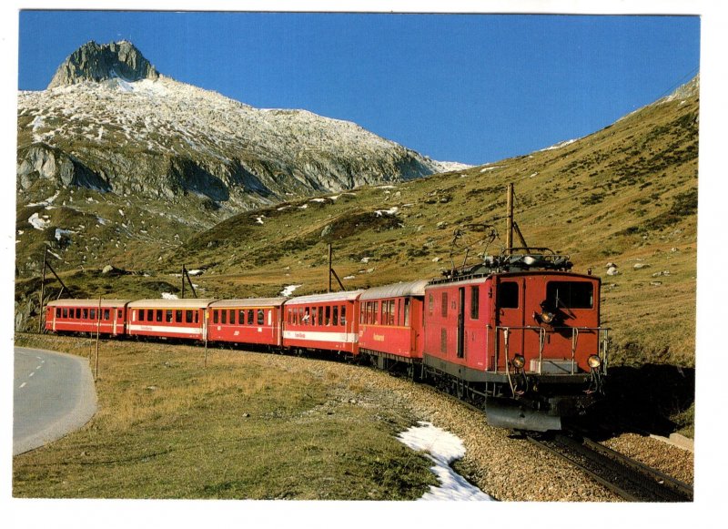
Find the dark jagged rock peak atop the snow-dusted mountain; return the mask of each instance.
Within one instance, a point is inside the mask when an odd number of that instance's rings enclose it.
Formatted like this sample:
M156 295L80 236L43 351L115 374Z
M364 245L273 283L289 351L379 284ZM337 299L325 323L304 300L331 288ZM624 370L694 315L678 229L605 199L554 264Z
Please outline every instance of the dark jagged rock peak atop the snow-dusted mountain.
M125 81L157 79L159 73L132 43L122 40L99 45L89 41L58 67L48 88L83 81L105 81L121 77Z

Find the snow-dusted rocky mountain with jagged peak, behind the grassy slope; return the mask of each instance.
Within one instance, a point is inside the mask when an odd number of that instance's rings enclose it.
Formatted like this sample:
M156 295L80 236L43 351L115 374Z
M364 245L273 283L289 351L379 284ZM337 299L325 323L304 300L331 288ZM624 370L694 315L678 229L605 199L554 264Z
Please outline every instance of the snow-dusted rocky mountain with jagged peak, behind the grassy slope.
M418 178L443 164L354 123L259 109L161 76L127 42L88 43L48 89L18 97L17 185L208 198L227 213L292 196Z

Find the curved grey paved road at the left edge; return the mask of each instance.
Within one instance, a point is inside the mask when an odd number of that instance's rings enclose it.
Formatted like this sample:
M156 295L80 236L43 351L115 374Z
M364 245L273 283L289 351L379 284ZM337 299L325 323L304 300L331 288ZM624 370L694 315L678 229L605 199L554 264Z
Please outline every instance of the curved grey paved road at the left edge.
M96 413L96 388L86 359L15 347L13 455L56 441Z

